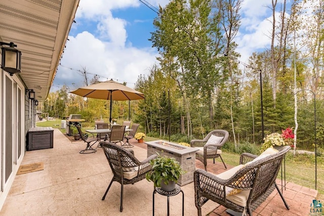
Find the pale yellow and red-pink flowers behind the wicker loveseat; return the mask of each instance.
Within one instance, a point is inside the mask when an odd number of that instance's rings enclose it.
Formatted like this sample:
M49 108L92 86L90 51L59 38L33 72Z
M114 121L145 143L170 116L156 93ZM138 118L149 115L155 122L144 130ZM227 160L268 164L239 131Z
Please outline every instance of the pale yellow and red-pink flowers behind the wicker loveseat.
M261 146L261 152L266 150L269 147L273 146L285 146L290 145L294 147L294 133L293 128L287 127L286 129L281 130L282 134L272 133L267 135L263 140L264 143Z

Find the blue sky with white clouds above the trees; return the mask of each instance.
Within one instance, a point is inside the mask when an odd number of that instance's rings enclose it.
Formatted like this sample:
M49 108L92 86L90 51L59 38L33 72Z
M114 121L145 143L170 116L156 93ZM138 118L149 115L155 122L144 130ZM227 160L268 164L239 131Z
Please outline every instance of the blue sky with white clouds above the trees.
M146 2L158 8L169 0ZM242 25L236 37L241 61L270 46L271 10L266 4L271 1L245 0L242 4ZM63 84L70 91L83 87L83 69L88 80L97 74L101 81L125 81L133 88L138 76L148 74L156 62L157 51L148 40L156 16L139 0L80 0L51 91Z

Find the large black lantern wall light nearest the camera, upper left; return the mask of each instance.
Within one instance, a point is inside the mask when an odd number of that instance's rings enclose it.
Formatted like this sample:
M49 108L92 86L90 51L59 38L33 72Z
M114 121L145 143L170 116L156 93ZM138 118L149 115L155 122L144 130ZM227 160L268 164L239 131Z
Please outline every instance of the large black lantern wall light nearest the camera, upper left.
M1 42L0 45L6 45L9 47L2 47L2 64L1 68L5 71L7 71L11 76L13 76L15 73L20 73L21 71L21 52L15 47L13 42L10 42L10 44L6 42Z

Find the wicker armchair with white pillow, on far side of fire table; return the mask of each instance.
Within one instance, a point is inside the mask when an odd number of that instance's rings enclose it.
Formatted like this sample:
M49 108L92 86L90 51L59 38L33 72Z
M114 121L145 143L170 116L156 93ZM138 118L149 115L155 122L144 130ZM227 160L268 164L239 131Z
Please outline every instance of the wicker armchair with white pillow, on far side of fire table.
M215 140L213 140L215 138ZM196 152L196 159L204 163L205 170L207 171L207 159L220 157L225 168L227 169L224 160L221 156L221 147L225 144L228 139L228 132L223 129L215 129L211 131L203 140L191 140L191 147L199 149ZM203 143L204 147L195 147L198 143Z

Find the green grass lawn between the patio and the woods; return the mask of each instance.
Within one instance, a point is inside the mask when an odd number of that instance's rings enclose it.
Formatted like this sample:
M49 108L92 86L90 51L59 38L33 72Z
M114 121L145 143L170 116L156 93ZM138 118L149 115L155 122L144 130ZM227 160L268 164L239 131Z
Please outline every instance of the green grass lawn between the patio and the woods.
M36 122L36 126L59 128L64 134L65 128L61 128L61 120L49 120ZM90 129L93 127L83 127L83 129ZM146 137L145 141L159 140L158 138ZM223 151L222 157L225 163L230 165L238 165L239 154ZM286 181L293 182L311 189L315 189L315 157L313 155L297 155L293 156L288 153L286 156ZM281 178L279 171L278 179ZM317 199L324 199L324 157L317 157Z

